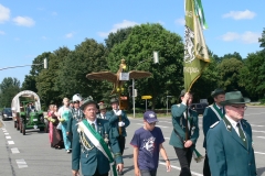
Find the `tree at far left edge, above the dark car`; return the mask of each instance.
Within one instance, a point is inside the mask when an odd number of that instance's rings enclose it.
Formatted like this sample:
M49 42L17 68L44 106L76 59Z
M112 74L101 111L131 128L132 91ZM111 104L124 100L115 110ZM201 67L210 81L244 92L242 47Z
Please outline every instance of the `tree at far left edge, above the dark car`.
M0 107L10 107L13 97L20 91L20 81L7 77L0 84Z

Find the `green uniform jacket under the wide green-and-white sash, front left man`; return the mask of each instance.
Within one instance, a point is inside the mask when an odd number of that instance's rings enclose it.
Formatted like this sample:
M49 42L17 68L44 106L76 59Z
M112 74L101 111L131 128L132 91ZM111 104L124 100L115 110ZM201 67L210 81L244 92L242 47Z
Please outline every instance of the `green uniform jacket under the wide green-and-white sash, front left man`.
M103 139L107 138L109 140L108 145L115 156L115 162L116 164L119 164L123 163L123 157L117 141L118 132L115 131L117 131L116 128L112 128L107 120L97 119L97 132L103 136ZM74 135L76 138L73 138L72 143L72 169L78 170L81 163L83 175L93 176L97 168L99 174L108 173L110 169L108 158L100 151L94 147L86 135L85 140L91 145L89 150L81 143L78 132L74 131L73 133L77 134Z

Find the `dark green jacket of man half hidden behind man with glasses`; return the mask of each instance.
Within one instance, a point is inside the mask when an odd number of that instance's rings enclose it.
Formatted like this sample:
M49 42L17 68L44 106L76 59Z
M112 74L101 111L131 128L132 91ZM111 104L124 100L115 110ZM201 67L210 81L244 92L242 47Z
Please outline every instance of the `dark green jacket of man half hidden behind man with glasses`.
M204 140L203 140L203 147L204 148L206 148L206 133L208 133L208 130L216 121L220 121L216 113L212 110L212 108L206 107L205 110L204 110L204 113L203 113L203 118L202 118L202 128L203 128L203 134L204 134Z

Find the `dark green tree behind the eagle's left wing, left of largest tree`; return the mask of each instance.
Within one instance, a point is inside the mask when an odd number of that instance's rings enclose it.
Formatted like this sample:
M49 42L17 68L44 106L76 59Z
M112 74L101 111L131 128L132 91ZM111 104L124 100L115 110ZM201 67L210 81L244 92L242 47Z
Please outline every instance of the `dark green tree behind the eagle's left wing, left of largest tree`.
M61 98L81 94L100 100L102 92L106 92L104 82L86 78L87 74L100 70L107 70L105 47L95 40L86 38L60 63L56 86L62 92Z

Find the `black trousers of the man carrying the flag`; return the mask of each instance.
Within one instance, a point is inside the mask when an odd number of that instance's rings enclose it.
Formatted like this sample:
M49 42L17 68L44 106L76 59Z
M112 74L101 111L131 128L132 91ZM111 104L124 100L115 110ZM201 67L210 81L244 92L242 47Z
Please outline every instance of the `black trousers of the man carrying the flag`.
M188 148L174 147L174 152L180 162L180 176L191 176L190 164L192 158L192 151Z

